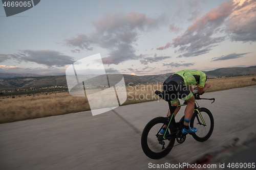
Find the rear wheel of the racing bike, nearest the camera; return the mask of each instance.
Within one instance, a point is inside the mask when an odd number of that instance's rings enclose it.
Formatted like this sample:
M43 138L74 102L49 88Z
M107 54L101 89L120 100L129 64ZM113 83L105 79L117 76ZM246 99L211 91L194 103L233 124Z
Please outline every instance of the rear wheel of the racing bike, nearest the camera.
M173 149L176 135L173 123L170 123L168 128L168 131L172 135L172 138L170 138L169 140L163 140L164 142L166 142L165 149L162 150L162 145L159 144L159 140L156 134L161 129L163 124L168 124L166 117L156 117L147 123L142 132L141 147L145 155L151 159L161 159Z

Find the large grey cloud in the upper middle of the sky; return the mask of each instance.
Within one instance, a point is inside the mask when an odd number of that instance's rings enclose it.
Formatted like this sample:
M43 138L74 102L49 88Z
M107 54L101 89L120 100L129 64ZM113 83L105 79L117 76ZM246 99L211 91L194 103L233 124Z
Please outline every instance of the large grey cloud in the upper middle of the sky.
M63 44L81 50L93 50L91 45L98 45L109 52L107 57L102 58L104 64L119 64L139 59L134 43L143 32L155 30L165 21L165 15L153 18L137 12L102 15L93 21L95 32L90 36L77 34L63 40Z

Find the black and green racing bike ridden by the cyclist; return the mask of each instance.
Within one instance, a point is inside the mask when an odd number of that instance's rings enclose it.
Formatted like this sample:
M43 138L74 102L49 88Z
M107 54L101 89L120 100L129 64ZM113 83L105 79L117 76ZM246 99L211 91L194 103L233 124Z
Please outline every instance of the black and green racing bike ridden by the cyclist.
M167 100L166 95L158 90L155 94L168 102L170 115L167 117L153 118L145 126L141 135L141 147L145 155L152 159L160 159L165 157L176 145L183 143L187 134L181 132L182 125L184 123L184 116L179 122L175 122L174 111L179 106L186 106L184 102L182 105L172 106L170 100ZM196 100L212 100L214 103L215 98L205 99L200 98L200 94L194 94ZM164 134L160 133L160 130L166 125ZM195 110L190 120L190 127L197 128L196 133L190 135L197 141L206 141L214 130L214 117L211 112L204 108L199 107L198 103L195 103ZM175 140L178 144L174 145Z

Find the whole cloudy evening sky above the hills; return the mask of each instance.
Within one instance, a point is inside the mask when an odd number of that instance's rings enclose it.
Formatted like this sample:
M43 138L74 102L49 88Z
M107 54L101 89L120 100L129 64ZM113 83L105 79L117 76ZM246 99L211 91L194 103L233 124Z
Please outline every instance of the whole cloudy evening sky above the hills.
M5 73L65 75L98 53L138 76L256 65L254 0L42 0L10 17L1 6L0 28Z

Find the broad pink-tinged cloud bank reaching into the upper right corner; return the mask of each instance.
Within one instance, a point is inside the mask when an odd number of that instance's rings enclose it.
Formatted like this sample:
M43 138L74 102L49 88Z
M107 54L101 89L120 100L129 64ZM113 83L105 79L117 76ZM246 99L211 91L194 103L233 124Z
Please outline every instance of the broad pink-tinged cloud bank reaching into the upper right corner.
M169 28L178 31L174 24ZM219 33L227 34L218 36ZM202 15L182 35L173 38L173 42L168 42L157 50L174 47L177 48L175 53L181 53L177 58L195 57L208 53L226 40L227 36L232 41L256 41L255 1L236 0L222 3Z

